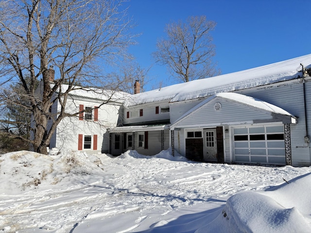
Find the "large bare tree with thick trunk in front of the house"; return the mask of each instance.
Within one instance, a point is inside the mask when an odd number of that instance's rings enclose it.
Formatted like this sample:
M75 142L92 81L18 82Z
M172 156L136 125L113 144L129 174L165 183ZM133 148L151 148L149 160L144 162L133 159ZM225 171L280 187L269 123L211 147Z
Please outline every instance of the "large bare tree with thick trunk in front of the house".
M59 122L79 114L66 112L69 93L76 84L104 82L96 67L126 55L126 47L134 43L129 33L131 21L122 3L123 0L0 2L0 85L5 89L12 82L21 83L27 104L20 107L32 115L33 135L22 138L31 143L36 152L47 153L46 147ZM52 85L51 67L57 77ZM41 95L35 92L39 79ZM20 104L14 98L4 95L0 98L2 106ZM61 109L48 129L49 109L55 101L59 101Z

